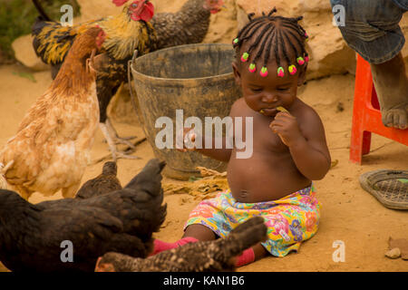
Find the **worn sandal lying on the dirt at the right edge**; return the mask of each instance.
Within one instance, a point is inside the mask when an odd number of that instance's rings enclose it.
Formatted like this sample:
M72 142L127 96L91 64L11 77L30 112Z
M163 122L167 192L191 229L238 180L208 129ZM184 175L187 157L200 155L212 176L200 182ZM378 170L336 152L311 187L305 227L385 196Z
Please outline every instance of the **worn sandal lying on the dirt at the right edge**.
M408 170L374 170L360 176L361 187L384 207L408 209Z

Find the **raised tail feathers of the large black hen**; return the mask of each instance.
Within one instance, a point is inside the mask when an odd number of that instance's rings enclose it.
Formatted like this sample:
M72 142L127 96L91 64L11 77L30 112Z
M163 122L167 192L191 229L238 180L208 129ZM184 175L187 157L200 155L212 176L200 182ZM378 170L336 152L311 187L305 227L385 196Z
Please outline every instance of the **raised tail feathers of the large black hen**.
M162 191L161 171L165 165L165 161L160 161L158 159L149 160L141 172L126 185L125 189L141 189L147 191L151 195L159 195Z

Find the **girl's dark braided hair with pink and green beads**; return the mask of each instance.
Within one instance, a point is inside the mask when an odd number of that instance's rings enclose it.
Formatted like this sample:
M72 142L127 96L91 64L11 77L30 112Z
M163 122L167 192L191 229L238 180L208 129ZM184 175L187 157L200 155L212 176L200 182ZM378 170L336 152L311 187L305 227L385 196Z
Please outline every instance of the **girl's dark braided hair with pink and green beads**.
M288 49L295 53L297 64L303 65L309 60L305 49L305 40L308 36L305 29L298 24L303 17L274 16L273 14L276 12L277 9L274 8L269 14L262 13L262 16L257 18L253 18L254 14L248 14L249 23L238 32L237 38L233 41L238 57L242 43L251 41L248 50L240 56L240 60L245 63L248 61L249 55L254 51L256 52L249 64L249 72L251 73L257 71L257 60L262 57L263 66L260 74L267 76L267 63L272 54L271 50L273 50L277 62L277 75L281 77L285 75L285 69L281 66L282 58L287 62L290 74L295 74L297 71L296 64L291 64Z

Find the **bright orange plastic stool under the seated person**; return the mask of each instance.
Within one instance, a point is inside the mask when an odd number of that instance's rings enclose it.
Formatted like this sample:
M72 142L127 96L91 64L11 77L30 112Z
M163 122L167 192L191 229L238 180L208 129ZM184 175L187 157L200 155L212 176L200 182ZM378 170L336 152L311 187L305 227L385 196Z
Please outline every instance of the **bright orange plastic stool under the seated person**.
M370 63L357 56L355 101L350 144L350 160L361 164L362 156L370 152L371 133L408 145L408 129L385 127L381 121L380 105L374 89Z

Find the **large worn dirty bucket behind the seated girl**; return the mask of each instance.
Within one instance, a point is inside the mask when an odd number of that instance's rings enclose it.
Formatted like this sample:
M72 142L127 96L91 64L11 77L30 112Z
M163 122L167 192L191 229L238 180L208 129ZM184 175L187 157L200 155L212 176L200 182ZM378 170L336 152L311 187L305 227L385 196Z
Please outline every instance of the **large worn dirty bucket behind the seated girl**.
M173 179L199 177L197 166L226 170L226 163L198 152L160 150L155 140L162 128L156 128L155 123L163 116L171 119L175 148L176 110L183 110L184 121L196 116L203 124L204 117L228 116L232 104L241 97L231 67L234 55L230 44L199 43L148 53L132 61L139 117L155 156L167 162L164 175Z

